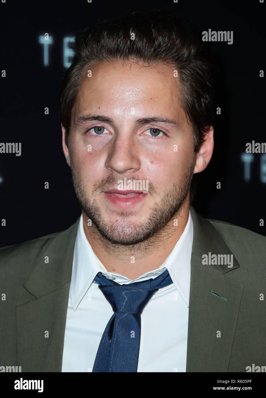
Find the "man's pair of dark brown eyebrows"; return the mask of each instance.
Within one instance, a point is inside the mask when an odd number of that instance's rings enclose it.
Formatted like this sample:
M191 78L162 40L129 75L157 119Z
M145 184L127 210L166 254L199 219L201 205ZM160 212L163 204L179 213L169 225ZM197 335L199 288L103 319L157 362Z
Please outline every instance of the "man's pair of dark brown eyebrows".
M108 116L104 115L94 115L94 114L88 114L88 115L82 115L76 119L74 122L75 126L78 127L82 125L83 123L86 123L88 121L92 120L98 120L101 122L106 122L106 123L114 123L113 119L111 119ZM161 116L154 116L154 117L142 117L140 119L135 120L134 124L148 124L148 123L166 123L168 125L172 125L175 127L180 127L181 123L178 120L174 119L168 119L167 117L161 117Z

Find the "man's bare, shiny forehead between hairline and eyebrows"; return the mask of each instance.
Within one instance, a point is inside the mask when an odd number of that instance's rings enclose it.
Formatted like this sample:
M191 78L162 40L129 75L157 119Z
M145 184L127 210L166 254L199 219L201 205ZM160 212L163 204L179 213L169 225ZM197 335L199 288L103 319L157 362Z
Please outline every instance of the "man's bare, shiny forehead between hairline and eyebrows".
M78 119L88 114L136 115L135 119L141 116L165 115L165 118L177 121L176 113L180 109L180 101L174 84L176 79L169 66L162 64L156 68L142 68L140 64L133 64L132 68L137 68L133 70L133 74L129 71L130 65L126 66L128 70L125 76L130 76L129 79L121 77L120 71L125 70L125 65L121 62L95 64L91 66L91 77L87 76L90 70L88 65L84 72L86 77L80 85L78 98L72 109L74 123L79 123ZM168 72L164 75L162 70L165 71L166 67ZM135 74L136 70L145 72ZM182 110L178 113L182 113Z

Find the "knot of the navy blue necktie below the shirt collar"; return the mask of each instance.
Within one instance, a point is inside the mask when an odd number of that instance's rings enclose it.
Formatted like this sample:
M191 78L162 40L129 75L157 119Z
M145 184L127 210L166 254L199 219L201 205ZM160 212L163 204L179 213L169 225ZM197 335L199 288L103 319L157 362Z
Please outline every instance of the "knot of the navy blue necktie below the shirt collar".
M99 285L110 302L113 312L141 314L143 308L158 289L145 289L132 285Z

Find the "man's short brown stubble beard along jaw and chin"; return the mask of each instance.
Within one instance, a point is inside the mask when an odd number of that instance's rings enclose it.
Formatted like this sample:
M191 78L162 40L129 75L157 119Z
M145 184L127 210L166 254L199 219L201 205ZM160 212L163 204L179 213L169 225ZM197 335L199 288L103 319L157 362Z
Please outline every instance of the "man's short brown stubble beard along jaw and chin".
M140 248L148 249L154 246L156 242L158 243L159 237L166 236L172 232L169 222L177 218L178 213L182 210L190 189L195 162L196 156L194 155L179 183L172 184L168 190L159 195L160 199L153 204L149 217L138 224L130 221L130 217L136 213L124 210L113 211L117 221L106 222L98 206L97 199L90 200L86 197L82 181L71 166L72 182L77 199L88 219L92 220L92 226L88 228L94 229L95 234L98 235L98 238L106 247L117 245L117 249L120 246L131 250L139 250ZM114 181L115 179L113 177L111 180ZM129 179L132 179L132 177L129 176ZM96 191L99 192L99 190L94 190L94 193ZM157 192L156 189L153 189L153 193L155 192ZM150 195L150 193L146 195Z

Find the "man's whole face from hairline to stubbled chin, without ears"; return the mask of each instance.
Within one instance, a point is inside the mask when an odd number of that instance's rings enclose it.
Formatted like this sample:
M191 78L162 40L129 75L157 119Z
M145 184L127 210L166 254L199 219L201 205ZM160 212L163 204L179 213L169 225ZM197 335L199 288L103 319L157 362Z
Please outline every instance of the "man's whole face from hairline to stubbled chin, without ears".
M85 214L113 243L156 236L188 199L196 156L179 93L178 77L164 64L95 64L82 77L72 109L69 164ZM109 120L80 119L89 114ZM144 120L158 117L176 125ZM148 193L125 195L147 187Z

